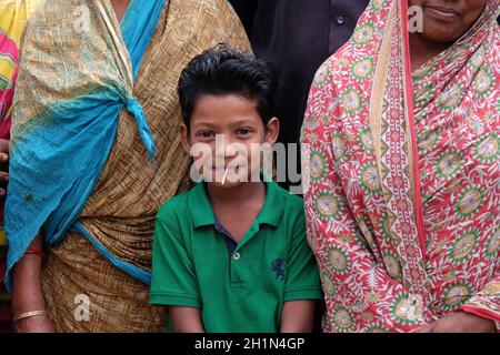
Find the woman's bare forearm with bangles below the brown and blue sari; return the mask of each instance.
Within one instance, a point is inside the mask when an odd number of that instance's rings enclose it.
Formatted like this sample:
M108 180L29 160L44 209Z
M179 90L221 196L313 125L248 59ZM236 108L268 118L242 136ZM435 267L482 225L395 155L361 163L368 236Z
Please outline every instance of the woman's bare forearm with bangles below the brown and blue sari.
M31 243L30 250L42 251L43 239L39 234ZM39 255L24 254L12 268L12 311L14 316L31 311L44 311L41 285L42 258ZM52 325L47 314L19 320L16 323L19 333L51 333Z

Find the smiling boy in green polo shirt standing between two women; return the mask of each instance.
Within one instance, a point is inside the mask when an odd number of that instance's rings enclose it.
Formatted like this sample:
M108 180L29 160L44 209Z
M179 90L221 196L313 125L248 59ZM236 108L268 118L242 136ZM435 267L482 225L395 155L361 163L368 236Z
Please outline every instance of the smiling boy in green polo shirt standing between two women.
M169 306L174 332L311 332L322 293L303 202L252 179L252 144L279 133L270 70L221 45L191 61L178 91L183 144L209 154L203 181L157 215L151 303Z

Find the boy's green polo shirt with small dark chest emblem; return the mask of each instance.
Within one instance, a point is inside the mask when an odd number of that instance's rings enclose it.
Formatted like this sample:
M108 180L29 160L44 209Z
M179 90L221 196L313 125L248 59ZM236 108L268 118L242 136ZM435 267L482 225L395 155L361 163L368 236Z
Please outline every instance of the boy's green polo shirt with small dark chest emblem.
M204 183L157 215L151 304L201 308L206 332L279 332L287 301L321 300L303 201L267 182L240 243L216 220Z

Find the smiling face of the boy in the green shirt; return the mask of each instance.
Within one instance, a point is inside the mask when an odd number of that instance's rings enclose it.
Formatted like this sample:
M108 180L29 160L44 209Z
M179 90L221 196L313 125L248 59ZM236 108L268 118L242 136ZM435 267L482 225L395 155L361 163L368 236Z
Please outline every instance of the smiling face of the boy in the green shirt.
M228 189L259 176L261 146L274 144L278 132L278 119L264 125L256 100L234 94L200 97L190 130L181 126L184 146L204 180Z

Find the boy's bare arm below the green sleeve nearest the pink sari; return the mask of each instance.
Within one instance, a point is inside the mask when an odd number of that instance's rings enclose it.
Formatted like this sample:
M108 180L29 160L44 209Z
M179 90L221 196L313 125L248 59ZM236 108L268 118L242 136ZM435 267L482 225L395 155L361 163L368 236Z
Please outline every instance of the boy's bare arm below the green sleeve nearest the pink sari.
M311 333L316 301L290 301L283 304L281 333Z

